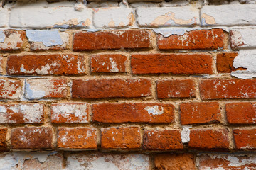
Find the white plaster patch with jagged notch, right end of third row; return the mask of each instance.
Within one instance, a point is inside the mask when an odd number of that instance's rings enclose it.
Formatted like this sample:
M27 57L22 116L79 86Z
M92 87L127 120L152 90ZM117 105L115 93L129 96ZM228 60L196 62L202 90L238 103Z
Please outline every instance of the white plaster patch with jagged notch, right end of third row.
M233 66L242 67L247 70L236 70L231 75L240 79L251 79L256 77L256 50L240 50L235 57Z

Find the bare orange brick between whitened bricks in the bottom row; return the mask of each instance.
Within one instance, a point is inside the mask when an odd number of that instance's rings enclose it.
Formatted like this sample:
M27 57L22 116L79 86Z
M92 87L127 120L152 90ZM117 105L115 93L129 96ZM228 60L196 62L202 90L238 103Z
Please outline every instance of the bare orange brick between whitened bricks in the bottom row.
M156 154L154 157L154 165L156 170L196 170L196 158L193 154Z

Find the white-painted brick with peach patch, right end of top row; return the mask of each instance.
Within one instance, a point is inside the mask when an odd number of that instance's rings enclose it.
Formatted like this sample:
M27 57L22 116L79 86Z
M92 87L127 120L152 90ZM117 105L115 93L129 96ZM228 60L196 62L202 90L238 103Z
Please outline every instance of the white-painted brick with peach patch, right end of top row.
M201 26L244 26L255 24L255 5L203 6L201 9Z

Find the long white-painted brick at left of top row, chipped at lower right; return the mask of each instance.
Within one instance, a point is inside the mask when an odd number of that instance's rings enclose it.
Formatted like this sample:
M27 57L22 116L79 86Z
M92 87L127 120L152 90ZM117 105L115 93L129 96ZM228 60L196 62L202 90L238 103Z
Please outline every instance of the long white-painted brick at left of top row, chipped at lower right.
M86 28L92 23L92 9L74 7L19 6L11 8L9 26L17 28Z

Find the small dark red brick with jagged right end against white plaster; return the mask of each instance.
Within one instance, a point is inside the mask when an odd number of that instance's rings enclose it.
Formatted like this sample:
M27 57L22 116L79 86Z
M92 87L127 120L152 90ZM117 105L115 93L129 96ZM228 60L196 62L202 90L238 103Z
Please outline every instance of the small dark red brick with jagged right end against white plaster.
M217 54L217 70L218 72L227 72L230 73L235 71L235 67L233 67L233 62L235 57L238 56L237 52L223 52Z

